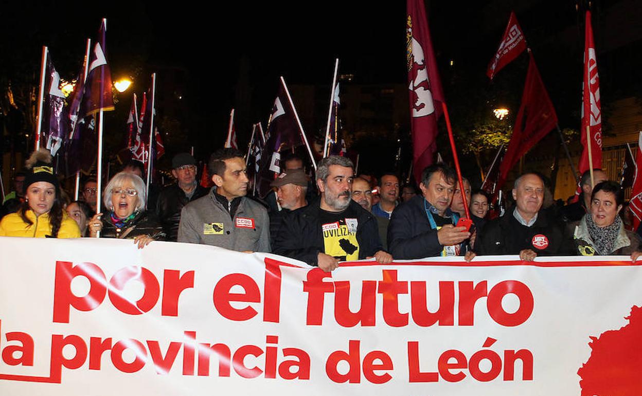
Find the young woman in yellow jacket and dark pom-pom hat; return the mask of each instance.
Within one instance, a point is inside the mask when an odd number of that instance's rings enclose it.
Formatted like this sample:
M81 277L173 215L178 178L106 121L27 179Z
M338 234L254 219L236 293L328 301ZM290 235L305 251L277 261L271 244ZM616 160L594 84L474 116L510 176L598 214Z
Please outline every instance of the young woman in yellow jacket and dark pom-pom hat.
M35 151L26 162L25 200L0 221L0 236L77 238L80 228L63 209L49 151Z

